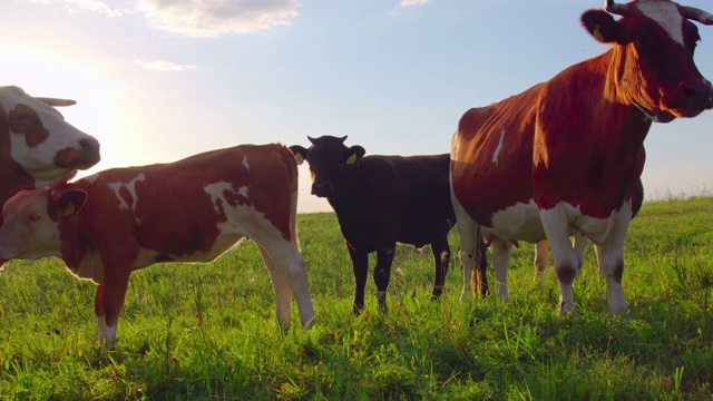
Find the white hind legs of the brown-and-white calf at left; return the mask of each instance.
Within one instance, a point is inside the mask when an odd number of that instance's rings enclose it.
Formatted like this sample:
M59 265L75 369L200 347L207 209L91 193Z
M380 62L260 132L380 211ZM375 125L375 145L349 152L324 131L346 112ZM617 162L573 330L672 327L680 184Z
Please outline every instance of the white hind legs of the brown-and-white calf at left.
M275 291L276 316L279 324L284 329L290 327L290 310L292 294L300 310L302 327L310 329L314 321L314 309L310 296L304 257L293 242L279 239L257 244L263 262L267 266L270 278Z

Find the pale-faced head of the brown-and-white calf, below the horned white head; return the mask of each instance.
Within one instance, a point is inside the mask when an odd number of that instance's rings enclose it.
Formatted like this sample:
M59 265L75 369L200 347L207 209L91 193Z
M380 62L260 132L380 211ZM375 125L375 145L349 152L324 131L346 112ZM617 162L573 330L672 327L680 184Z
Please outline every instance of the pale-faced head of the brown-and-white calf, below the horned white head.
M59 221L81 209L87 193L50 187L20 190L2 205L0 263L61 255Z

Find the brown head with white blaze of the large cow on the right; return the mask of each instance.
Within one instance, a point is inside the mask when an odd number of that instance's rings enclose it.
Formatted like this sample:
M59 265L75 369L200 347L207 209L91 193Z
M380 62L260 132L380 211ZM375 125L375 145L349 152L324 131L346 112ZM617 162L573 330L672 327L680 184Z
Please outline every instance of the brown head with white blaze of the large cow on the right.
M691 22L713 25L712 14L670 0L606 0L605 6L606 11L585 12L582 22L597 40L615 45L608 100L634 105L661 123L713 108L713 87L693 61L701 37Z

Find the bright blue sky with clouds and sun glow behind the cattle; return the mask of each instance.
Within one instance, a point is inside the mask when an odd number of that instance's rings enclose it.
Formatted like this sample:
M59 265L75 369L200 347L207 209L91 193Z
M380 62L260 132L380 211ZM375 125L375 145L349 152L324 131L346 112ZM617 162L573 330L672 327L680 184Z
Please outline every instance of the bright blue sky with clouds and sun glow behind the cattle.
M603 3L2 0L0 85L77 100L60 111L102 155L81 176L322 135L368 155L442 154L469 108L606 51L579 22ZM696 63L713 79L713 27L699 29ZM713 193L712 127L713 111L654 124L647 200ZM306 163L300 174L299 212L331 211Z

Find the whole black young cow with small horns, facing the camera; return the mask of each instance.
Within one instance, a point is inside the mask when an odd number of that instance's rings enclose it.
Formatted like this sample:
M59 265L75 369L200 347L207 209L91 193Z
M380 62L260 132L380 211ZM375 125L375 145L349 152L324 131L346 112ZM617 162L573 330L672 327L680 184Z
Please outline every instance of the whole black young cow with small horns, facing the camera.
M437 156L365 156L346 137L307 137L312 146L291 146L299 163L307 160L312 194L326 198L336 213L352 261L356 292L353 312L364 309L369 254L377 252L373 280L381 312L397 243L431 245L433 297L442 293L450 262L448 233L456 215L448 189L448 154Z

